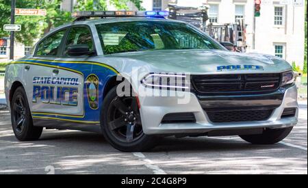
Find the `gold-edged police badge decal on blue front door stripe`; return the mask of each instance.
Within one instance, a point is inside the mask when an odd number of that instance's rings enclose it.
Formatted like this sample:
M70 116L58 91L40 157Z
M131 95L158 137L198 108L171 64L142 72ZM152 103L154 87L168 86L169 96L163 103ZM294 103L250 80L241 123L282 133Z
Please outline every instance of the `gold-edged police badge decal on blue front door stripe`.
M86 79L88 102L91 109L99 108L99 77L89 75Z

